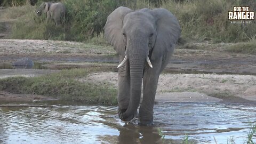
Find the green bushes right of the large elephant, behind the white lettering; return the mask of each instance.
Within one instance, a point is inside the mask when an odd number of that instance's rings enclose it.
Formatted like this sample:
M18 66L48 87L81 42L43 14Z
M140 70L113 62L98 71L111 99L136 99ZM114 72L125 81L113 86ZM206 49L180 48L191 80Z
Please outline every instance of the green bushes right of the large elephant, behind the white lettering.
M250 1L235 0L205 0L184 1L175 3L166 1L163 7L174 13L180 21L182 37L187 39L213 39L215 42L245 42L254 37L256 23L232 24L228 20L228 11L234 6L250 5L255 9L255 4Z

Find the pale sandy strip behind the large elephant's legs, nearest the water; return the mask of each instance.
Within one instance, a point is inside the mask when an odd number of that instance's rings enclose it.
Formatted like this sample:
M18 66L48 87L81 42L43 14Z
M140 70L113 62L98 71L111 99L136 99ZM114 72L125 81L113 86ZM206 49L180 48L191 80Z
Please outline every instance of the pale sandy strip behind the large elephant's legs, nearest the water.
M117 87L117 73L92 73L79 81L110 83ZM256 102L256 76L161 74L159 77L158 102L218 102L221 99L225 102Z

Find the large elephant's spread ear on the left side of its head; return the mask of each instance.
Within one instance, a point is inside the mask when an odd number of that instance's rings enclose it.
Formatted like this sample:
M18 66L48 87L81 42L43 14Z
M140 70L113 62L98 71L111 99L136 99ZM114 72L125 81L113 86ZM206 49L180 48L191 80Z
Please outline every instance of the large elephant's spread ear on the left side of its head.
M132 10L127 7L118 7L108 15L107 22L104 26L104 37L114 46L115 51L123 57L125 55L125 45L122 35L123 20L125 15L130 12Z

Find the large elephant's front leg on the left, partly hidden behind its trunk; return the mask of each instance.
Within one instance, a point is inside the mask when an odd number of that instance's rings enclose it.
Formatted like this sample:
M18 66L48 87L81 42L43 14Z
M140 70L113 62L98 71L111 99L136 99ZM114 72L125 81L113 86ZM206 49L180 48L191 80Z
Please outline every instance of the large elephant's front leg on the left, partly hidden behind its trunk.
M121 58L123 60L123 58ZM122 61L121 60L121 61ZM129 106L131 93L131 78L130 78L130 66L129 61L126 61L125 65L118 69L118 116Z

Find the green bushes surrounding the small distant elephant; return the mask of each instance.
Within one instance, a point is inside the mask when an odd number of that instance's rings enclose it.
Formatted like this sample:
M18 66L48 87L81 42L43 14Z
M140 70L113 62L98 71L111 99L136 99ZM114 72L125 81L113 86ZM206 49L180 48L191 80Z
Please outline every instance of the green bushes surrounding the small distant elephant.
M56 27L52 21L45 22L46 14L41 17L35 14L42 2L38 1L36 7L25 6L26 18L14 24L12 38L86 41L103 31L108 14L118 6L116 1L111 0L63 0L67 9L66 22Z

